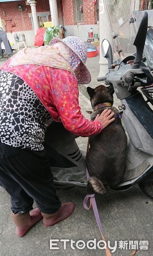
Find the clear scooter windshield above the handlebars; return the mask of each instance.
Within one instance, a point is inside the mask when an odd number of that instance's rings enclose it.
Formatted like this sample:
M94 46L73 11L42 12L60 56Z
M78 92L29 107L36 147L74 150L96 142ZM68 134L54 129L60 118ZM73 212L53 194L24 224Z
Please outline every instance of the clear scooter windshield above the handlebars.
M137 24L133 16L133 0L105 0L111 32L113 36L114 62L121 63L126 56L134 55L133 46L137 34Z

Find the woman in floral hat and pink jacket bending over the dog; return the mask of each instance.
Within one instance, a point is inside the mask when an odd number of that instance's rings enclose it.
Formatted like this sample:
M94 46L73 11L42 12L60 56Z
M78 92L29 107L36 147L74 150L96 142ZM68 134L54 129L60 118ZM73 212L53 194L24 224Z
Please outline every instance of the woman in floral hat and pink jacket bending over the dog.
M86 59L85 43L69 36L53 39L50 46L24 48L0 69L0 184L11 196L19 237L41 218L52 226L74 210L73 203L61 204L56 194L44 148L46 128L54 120L88 137L114 121L109 110L95 121L80 112L78 83L91 81Z

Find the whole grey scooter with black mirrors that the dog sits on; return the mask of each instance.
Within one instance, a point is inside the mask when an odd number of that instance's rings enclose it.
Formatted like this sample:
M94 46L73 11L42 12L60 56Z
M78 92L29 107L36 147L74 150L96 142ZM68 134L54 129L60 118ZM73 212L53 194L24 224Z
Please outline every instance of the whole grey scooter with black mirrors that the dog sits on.
M139 184L143 192L153 197L153 77L142 62L146 32L147 13L134 41L136 56L125 57L117 70L112 68L111 44L104 39L101 50L108 60L108 73L97 80L105 81L106 85L113 84L116 96L121 101L119 109L128 136L125 176L115 190L124 191ZM141 88L141 92L138 88ZM144 95L151 106L145 101ZM75 139L75 135L65 130L62 123L53 122L47 130L45 148L52 163L50 168L57 188L87 187L86 152L80 151Z

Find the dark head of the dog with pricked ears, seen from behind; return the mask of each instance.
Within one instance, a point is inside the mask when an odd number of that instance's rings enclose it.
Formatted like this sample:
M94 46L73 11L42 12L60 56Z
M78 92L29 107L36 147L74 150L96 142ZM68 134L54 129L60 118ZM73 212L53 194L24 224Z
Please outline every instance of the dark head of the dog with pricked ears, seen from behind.
M113 105L113 85L106 87L99 85L95 89L90 86L87 87L87 92L90 96L91 106L94 109L97 104L110 102Z

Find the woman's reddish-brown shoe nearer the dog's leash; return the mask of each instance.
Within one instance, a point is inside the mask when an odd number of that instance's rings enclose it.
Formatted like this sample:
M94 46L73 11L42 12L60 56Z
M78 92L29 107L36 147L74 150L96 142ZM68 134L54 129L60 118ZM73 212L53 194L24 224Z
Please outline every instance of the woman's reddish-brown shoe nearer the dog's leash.
M69 217L74 211L74 204L73 203L63 203L61 208L57 210L56 213L53 214L46 214L41 213L44 217L42 222L44 226L53 226L54 224L58 223L59 221L65 220L65 218Z

